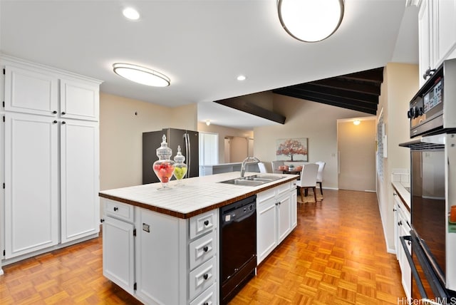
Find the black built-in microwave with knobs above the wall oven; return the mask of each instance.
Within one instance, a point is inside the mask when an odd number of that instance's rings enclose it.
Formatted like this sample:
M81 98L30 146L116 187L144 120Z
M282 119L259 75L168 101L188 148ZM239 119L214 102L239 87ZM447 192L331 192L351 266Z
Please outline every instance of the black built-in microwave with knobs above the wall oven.
M410 101L410 138L456 130L456 58L444 61Z

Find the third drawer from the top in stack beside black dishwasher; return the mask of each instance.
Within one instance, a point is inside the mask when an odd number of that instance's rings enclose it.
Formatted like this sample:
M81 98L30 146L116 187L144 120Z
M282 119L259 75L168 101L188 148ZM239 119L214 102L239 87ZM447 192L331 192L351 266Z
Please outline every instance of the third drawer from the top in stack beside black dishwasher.
M217 259L212 257L189 274L190 299L195 298L214 284L217 276Z

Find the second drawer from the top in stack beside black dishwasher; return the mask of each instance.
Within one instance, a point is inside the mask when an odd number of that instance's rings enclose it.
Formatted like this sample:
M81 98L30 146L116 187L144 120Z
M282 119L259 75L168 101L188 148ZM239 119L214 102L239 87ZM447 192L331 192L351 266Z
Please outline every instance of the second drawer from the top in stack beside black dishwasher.
M217 237L215 231L190 242L190 270L197 267L199 264L206 262L207 259L213 257L215 253L217 253Z

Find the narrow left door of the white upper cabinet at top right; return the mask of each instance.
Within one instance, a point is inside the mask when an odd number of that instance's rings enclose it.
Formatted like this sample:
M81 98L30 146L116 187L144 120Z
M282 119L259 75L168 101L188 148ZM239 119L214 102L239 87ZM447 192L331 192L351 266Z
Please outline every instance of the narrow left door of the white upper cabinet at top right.
M430 31L430 0L423 0L418 14L418 36L419 36L419 61L420 61L420 86L425 83L423 75L432 66L431 63L431 31Z

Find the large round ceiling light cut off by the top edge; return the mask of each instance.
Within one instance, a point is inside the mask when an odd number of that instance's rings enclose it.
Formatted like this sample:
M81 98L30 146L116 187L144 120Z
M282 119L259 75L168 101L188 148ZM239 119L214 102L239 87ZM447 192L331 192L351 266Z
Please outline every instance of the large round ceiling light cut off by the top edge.
M331 36L341 25L343 0L278 0L277 11L291 36L316 42Z

